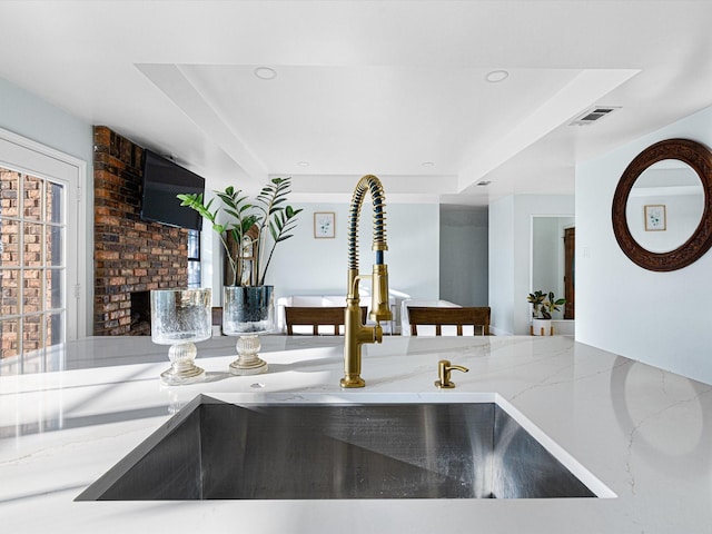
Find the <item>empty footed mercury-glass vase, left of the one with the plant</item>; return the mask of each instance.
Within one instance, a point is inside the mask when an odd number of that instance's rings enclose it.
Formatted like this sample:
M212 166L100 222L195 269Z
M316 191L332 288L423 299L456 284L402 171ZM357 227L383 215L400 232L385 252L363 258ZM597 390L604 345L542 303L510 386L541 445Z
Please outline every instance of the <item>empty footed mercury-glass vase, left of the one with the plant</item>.
M205 370L195 365L197 342L212 332L210 289L151 290L151 340L170 345L171 366L161 373L164 384L176 386L205 379Z

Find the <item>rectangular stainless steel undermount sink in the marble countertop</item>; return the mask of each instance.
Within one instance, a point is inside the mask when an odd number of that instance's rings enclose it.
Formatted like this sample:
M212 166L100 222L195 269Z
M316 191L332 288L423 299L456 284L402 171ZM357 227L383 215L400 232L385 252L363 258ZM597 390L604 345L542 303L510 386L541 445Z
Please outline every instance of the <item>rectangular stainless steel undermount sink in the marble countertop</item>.
M494 402L239 405L199 396L77 500L610 496L589 485Z

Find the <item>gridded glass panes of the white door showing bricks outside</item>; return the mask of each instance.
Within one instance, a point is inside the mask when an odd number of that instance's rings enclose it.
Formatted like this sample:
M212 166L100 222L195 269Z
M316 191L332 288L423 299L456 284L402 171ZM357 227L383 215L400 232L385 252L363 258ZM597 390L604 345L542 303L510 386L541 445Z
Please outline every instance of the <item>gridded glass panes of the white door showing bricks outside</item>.
M0 355L14 373L49 370L46 349L66 340L66 190L0 167Z

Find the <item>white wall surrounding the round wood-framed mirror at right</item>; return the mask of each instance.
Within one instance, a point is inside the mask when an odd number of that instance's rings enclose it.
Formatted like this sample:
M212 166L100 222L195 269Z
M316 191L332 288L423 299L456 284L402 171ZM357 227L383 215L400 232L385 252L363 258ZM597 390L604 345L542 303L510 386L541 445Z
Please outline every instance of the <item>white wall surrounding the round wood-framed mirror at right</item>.
M613 235L621 175L650 145L712 146L712 108L576 168L576 339L712 384L712 254L672 273L633 264Z

